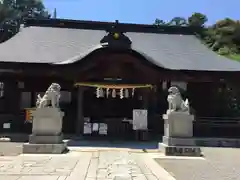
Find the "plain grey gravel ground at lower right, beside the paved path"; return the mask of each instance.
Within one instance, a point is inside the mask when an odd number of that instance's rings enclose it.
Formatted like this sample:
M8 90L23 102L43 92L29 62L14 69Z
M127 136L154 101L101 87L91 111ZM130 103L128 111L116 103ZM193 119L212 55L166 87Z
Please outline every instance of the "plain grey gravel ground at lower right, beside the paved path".
M203 148L205 160L156 159L176 180L240 180L240 149Z

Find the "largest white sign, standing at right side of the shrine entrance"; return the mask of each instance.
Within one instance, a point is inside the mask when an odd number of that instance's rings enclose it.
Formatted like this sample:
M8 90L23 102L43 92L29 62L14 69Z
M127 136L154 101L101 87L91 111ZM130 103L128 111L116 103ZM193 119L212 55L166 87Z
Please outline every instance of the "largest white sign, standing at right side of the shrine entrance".
M146 109L134 109L133 110L133 129L134 130L147 130L147 116Z

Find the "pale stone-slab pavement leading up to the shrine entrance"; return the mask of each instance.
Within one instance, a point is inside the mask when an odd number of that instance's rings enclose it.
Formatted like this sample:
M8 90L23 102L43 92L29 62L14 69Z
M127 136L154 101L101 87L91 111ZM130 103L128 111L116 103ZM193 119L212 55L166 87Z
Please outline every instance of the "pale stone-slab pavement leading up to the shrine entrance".
M173 180L147 153L92 150L0 157L0 180Z

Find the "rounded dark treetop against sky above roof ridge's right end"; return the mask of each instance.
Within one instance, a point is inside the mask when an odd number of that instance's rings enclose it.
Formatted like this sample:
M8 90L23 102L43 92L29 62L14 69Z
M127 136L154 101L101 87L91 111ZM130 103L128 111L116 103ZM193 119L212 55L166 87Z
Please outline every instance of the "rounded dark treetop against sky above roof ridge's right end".
M194 13L188 18L189 26L203 27L207 22L207 16L202 13Z

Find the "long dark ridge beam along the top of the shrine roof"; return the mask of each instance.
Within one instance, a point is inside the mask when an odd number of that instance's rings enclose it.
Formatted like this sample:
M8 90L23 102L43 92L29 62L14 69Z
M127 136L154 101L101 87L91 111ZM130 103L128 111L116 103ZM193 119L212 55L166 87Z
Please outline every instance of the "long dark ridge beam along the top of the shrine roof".
M161 33L161 34L195 34L202 29L196 27L180 27L180 26L156 26L148 24L134 23L119 23L102 22L102 21L87 21L87 20L71 20L71 19L26 19L25 26L38 27L56 27L70 29L91 29L109 31L113 26L117 26L122 32L146 32L146 33Z

